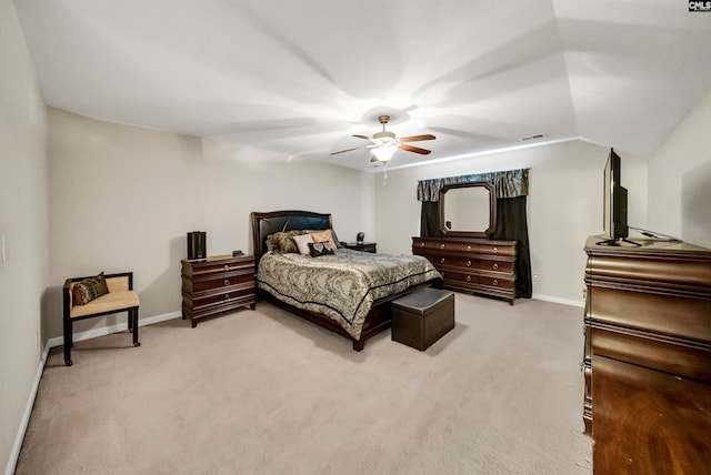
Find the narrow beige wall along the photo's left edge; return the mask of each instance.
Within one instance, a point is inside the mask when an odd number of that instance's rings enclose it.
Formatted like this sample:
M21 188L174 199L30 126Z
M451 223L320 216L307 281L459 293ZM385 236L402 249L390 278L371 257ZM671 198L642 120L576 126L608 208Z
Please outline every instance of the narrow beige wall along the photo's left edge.
M11 471L42 356L48 211L47 108L9 0L0 0L0 465Z

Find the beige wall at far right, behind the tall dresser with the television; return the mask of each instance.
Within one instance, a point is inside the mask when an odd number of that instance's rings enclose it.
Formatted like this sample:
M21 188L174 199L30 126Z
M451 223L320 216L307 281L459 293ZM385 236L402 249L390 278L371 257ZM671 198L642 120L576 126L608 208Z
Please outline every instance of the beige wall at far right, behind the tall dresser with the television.
M711 90L669 134L649 162L652 231L711 247Z

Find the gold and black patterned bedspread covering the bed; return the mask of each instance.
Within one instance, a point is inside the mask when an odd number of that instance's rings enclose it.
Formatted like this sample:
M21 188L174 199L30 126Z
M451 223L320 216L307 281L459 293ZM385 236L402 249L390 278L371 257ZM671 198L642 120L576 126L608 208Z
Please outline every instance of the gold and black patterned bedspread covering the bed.
M328 315L359 340L374 301L437 277L440 273L420 255L339 249L319 257L268 252L259 262L257 285L290 305Z

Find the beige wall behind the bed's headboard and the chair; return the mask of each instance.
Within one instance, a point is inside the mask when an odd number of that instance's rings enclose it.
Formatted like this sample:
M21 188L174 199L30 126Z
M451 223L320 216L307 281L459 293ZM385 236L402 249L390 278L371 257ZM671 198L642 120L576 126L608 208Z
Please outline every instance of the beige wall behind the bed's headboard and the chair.
M251 251L250 212L331 212L343 240L372 234L373 176L257 150L49 110L49 335L61 332L66 277L130 270L141 317L180 311L186 233L210 255ZM123 323L79 322L77 332Z

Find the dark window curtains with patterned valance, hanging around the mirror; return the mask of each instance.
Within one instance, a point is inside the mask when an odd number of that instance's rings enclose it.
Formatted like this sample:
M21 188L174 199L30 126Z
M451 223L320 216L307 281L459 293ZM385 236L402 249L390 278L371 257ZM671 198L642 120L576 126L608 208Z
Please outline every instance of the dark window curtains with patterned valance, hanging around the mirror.
M443 185L477 181L485 181L494 186L497 225L491 239L518 242L517 296L530 299L533 294L533 285L525 212L525 196L529 194L529 169L420 180L418 182L418 200L422 202L420 235L422 238L440 238L442 235L439 200Z

